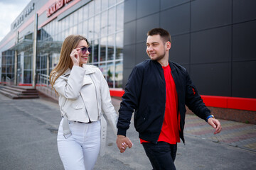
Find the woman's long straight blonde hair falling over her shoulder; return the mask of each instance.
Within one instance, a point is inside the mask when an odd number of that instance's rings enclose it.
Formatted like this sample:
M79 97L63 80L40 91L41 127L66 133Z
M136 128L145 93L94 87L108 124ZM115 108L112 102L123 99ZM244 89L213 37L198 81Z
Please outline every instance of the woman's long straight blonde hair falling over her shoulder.
M75 49L75 47L78 46L80 40L85 40L87 45L89 45L87 39L82 35L69 35L67 38L65 38L60 50L60 60L53 71L50 72L49 79L52 89L56 79L58 79L58 77L60 77L68 68L72 69L73 62L71 60L70 53L73 49ZM58 94L57 91L55 91L55 93Z

